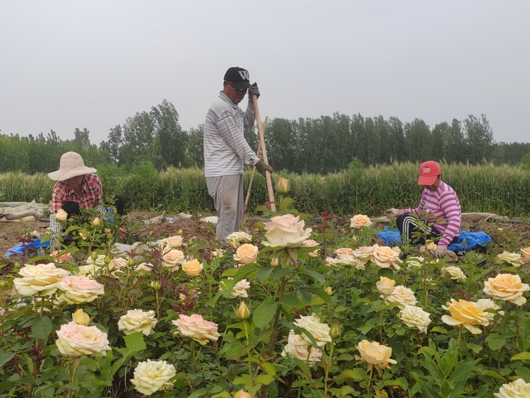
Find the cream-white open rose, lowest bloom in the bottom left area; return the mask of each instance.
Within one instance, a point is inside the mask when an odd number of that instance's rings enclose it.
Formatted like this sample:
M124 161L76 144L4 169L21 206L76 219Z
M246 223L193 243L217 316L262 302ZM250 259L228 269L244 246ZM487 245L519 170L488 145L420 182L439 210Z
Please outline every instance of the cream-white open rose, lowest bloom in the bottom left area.
M175 366L166 361L140 362L134 369L134 377L131 379L134 390L148 397L157 391L173 390L171 378L177 374Z

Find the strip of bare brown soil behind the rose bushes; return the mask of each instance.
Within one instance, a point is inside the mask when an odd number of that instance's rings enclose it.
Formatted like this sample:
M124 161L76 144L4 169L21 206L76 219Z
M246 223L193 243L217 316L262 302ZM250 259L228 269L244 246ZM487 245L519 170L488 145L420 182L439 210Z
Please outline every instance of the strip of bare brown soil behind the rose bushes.
M175 223L158 223L158 224L144 224L142 220L148 220L157 216L152 211L135 211L129 213L126 217L139 224L139 229L136 230L134 237L136 240L145 240L148 235L151 235L154 240L160 238L167 238L172 235L182 235L184 240L190 238L197 238L205 240L206 242L213 242L216 239L215 226L210 223L199 221L205 215L194 215L189 221L177 221ZM334 218L335 226L341 230L349 229L349 218ZM319 220L312 219L306 221L308 227L317 228ZM313 224L313 225L312 225ZM29 221L9 221L0 222L0 276L8 274L13 268L13 260L5 256L6 250L15 246L21 236L37 231L43 233L45 228L48 228L49 223L45 221L37 221L31 219ZM252 221L247 221L244 230L252 228ZM377 229L383 226L375 226ZM483 231L488 233L497 250L502 251L502 242L511 241L517 247L530 246L530 224L528 222L522 223L507 223L500 221L483 221L480 219L464 220L462 222L462 230L469 231ZM182 231L182 232L180 232ZM2 267L3 266L3 267Z

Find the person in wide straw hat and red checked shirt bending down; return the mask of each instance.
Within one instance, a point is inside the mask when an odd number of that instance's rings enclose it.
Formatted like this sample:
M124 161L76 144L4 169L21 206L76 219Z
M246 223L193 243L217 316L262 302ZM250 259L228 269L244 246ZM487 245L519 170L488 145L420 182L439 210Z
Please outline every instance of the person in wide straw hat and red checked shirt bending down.
M57 181L52 192L52 209L49 214L49 229L55 236L59 234L59 223L55 220L59 209L66 211L70 218L79 214L81 209L98 206L101 216L105 215L105 208L100 206L103 197L101 180L93 174L96 171L85 165L79 153L66 152L61 156L59 170L48 174L48 177ZM116 197L114 206L119 214L123 214L122 197Z

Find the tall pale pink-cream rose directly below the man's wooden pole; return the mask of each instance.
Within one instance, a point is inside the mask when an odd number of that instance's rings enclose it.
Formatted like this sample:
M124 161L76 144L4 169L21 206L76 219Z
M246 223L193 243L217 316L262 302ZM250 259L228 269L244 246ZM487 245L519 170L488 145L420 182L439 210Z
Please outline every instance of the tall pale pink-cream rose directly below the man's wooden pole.
M304 228L305 221L300 221L300 216L284 214L272 217L265 223L267 232L262 243L270 247L300 247L302 242L310 238L312 229Z

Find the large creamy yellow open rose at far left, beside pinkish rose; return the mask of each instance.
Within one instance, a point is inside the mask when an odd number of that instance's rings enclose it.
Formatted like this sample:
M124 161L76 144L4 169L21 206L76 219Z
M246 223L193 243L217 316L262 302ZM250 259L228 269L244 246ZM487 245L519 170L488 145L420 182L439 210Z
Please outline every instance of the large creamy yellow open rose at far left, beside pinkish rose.
M55 264L25 264L18 274L22 278L13 279L13 286L21 295L50 295L69 271L55 267Z

